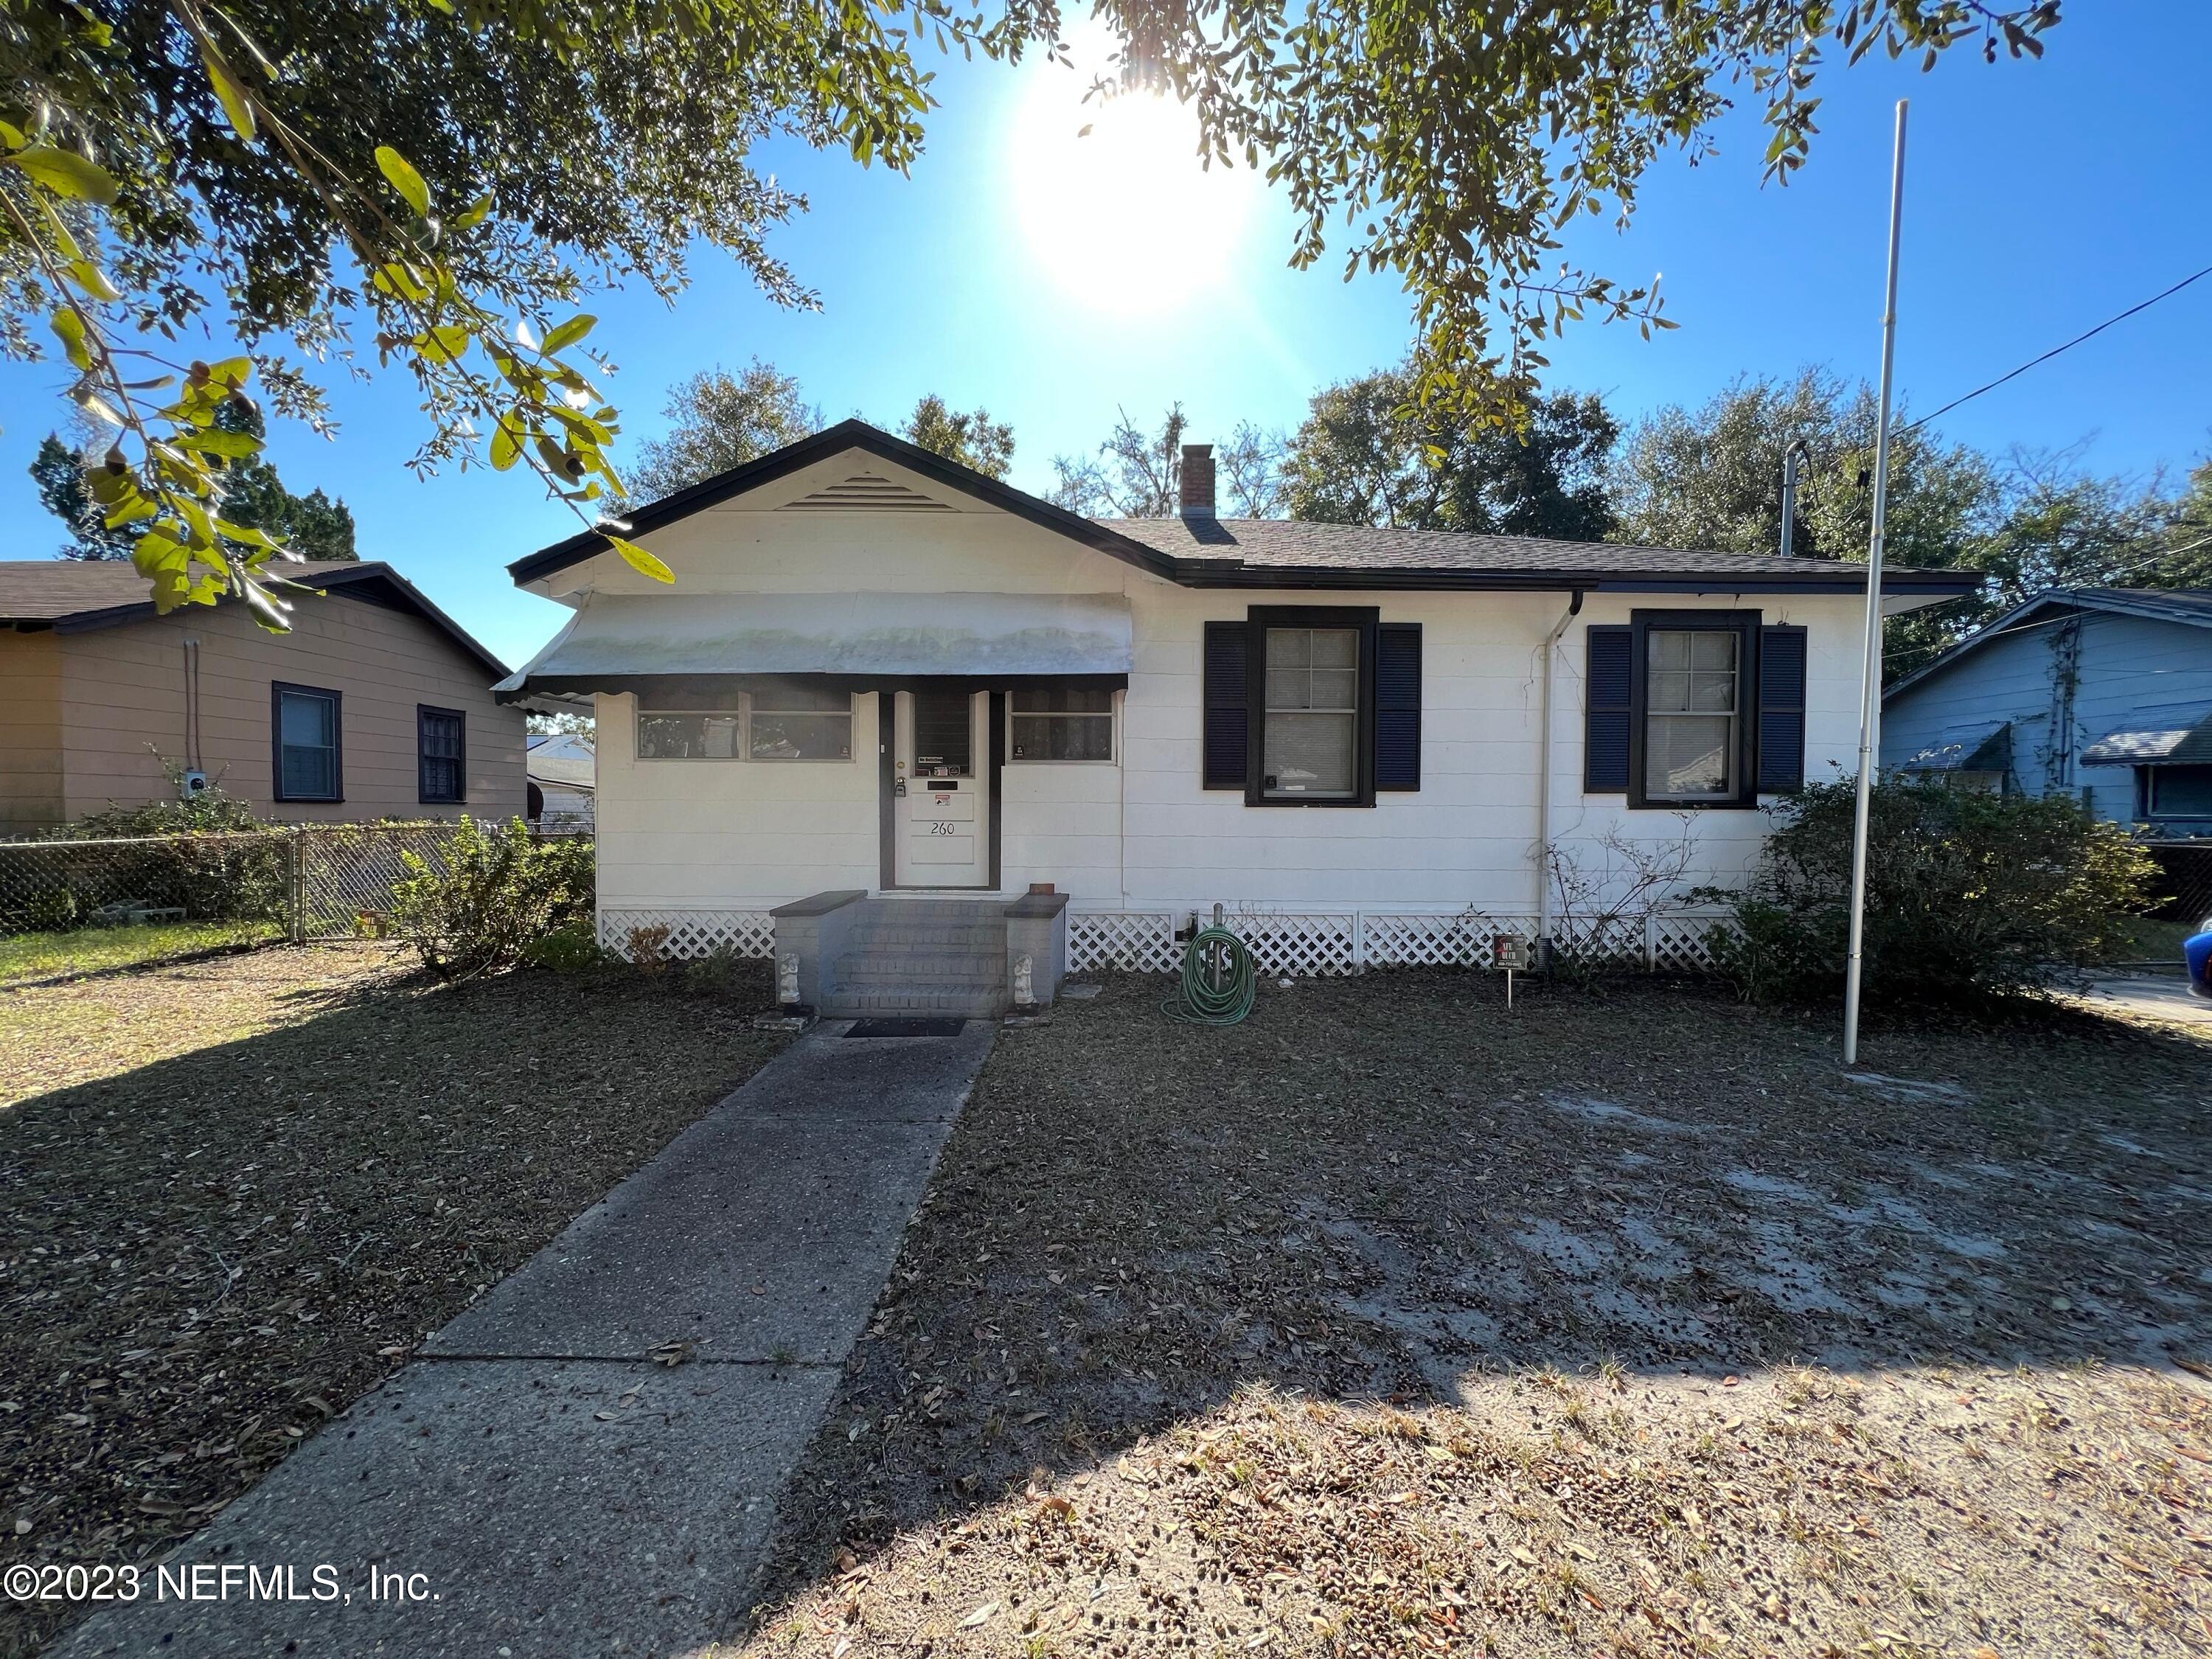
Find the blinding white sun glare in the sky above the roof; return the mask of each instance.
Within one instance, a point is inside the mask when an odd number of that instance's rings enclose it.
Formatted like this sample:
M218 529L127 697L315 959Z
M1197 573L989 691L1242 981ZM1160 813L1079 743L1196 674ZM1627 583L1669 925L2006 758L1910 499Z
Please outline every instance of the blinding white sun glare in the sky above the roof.
M1144 93L1084 102L1088 86L1082 69L1040 66L1018 108L1022 234L1071 299L1119 316L1175 312L1228 279L1259 177L1203 168L1186 106Z

